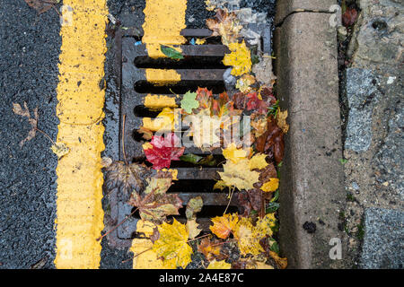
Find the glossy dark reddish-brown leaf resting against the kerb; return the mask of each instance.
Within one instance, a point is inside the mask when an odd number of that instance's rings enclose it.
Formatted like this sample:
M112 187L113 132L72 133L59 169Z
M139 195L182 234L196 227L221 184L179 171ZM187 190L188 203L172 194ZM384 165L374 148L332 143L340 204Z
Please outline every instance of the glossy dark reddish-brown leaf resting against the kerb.
M272 152L274 159L278 164L284 158L284 133L279 126L277 126L277 122L274 117L268 117L267 124L267 131L264 133L264 135L259 136L257 139L256 148L259 152L265 152L267 154Z

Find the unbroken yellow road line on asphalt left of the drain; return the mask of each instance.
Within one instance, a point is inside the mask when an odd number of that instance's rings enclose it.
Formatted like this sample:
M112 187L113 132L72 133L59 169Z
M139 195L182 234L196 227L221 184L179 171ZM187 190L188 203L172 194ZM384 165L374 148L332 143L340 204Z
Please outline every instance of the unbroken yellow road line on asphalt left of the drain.
M57 268L98 268L103 229L101 151L106 0L64 0L57 86Z

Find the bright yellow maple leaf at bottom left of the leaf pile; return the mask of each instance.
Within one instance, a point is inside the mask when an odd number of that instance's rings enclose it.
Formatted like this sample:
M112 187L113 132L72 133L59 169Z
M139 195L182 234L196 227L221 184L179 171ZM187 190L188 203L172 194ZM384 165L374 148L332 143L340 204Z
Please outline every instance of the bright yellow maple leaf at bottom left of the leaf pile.
M154 242L153 250L165 260L176 258L177 266L185 268L191 262L192 248L188 244L189 233L185 224L174 218L172 224L162 222L158 226L160 237Z

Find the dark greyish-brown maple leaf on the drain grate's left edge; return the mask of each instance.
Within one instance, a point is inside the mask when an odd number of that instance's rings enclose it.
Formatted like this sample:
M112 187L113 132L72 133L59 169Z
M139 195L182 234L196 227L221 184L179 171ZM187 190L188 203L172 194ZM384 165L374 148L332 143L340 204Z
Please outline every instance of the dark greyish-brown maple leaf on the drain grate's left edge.
M106 187L111 190L122 187L124 195L129 195L132 189L140 191L145 185L143 177L148 169L143 164L115 161L107 171Z

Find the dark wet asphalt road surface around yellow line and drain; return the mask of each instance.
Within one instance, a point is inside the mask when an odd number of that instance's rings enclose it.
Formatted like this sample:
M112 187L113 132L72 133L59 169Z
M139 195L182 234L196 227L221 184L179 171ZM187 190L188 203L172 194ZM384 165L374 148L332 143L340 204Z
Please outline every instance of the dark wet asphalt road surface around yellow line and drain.
M241 1L256 11L273 15L273 0ZM109 11L123 26L140 27L145 1L108 1ZM58 6L56 7L59 8ZM203 28L207 17L204 1L189 0L186 20L189 28ZM56 252L56 167L57 156L44 135L19 143L30 131L26 118L13 114L13 103L25 101L32 111L39 109L38 127L52 139L57 136L57 64L60 53L60 23L56 10L38 14L24 0L0 0L0 268L30 268L41 261L42 268L54 268ZM112 45L111 38L107 45ZM110 47L110 46L108 46ZM106 115L104 155L115 158L114 134L117 122L113 55L107 53ZM110 128L110 129L109 129ZM108 202L104 202L107 208ZM130 268L127 249L113 249L102 240L101 268Z

